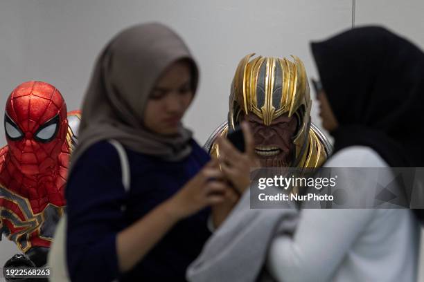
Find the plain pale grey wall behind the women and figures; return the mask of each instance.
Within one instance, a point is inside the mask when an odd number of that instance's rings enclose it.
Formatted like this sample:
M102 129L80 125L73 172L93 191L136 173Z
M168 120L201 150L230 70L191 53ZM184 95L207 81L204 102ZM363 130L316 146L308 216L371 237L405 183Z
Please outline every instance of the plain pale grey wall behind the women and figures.
M294 54L317 77L308 42L349 28L352 1L1 1L0 109L15 86L33 79L55 85L68 109L78 109L100 48L122 28L161 21L182 35L200 63L200 88L185 122L203 143L227 116L229 86L242 57ZM424 46L423 12L418 0L357 0L355 17L357 23L385 23ZM315 108L312 120L320 124ZM1 241L0 267L15 252Z

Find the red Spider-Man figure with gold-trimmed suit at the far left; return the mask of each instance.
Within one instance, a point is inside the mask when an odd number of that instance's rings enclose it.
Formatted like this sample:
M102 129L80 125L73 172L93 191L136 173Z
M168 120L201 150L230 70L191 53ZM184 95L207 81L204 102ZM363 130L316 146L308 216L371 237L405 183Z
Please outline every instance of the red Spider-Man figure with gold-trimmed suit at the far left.
M25 82L8 97L4 118L8 144L0 149L0 239L3 234L21 251L4 267L42 267L64 214L80 111L67 113L51 84Z

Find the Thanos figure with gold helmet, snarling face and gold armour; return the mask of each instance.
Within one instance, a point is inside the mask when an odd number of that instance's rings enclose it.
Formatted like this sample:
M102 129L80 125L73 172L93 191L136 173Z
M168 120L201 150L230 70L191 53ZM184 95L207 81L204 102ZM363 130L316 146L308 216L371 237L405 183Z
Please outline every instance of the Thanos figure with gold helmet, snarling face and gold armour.
M241 59L231 84L227 122L216 129L205 147L215 158L215 142L242 120L249 122L261 167L320 167L331 153L328 139L310 120L312 101L301 60L279 57Z

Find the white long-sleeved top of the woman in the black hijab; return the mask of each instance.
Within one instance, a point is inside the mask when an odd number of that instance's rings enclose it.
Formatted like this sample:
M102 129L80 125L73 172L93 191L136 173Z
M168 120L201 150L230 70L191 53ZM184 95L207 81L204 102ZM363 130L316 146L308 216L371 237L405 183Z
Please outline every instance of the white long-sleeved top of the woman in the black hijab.
M388 167L369 147L337 152L326 167ZM292 237L270 246L278 281L416 281L419 225L409 209L302 209Z

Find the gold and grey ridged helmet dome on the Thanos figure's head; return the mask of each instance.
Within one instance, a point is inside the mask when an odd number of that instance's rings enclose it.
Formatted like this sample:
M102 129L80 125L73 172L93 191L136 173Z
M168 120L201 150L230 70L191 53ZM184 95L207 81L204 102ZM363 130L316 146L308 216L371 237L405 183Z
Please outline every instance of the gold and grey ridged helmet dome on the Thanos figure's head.
M309 85L301 60L296 56L292 56L294 62L278 57L251 59L253 55L241 59L233 78L230 126L238 124L241 111L246 115L254 113L265 125L283 113L292 116L301 108L303 113L309 113Z

